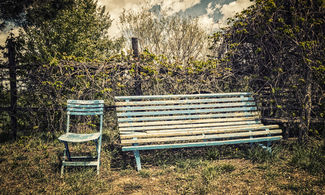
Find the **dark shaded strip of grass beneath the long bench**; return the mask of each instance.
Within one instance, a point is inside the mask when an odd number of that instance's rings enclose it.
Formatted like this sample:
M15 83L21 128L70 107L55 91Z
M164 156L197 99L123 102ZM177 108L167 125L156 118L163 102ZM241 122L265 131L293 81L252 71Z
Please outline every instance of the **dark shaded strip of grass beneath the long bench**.
M257 149L254 149L257 148ZM143 167L156 166L182 166L183 161L210 161L223 159L245 158L252 161L264 162L271 158L267 153L251 147L249 144L224 145L197 148L177 148L162 150L140 151L141 164ZM107 145L108 150L112 153L111 167L115 169L135 169L135 158L133 152L122 152L119 145ZM263 149L262 149L263 150ZM261 156L254 156L262 152ZM263 160L264 159L264 160ZM195 166L195 165L193 165Z

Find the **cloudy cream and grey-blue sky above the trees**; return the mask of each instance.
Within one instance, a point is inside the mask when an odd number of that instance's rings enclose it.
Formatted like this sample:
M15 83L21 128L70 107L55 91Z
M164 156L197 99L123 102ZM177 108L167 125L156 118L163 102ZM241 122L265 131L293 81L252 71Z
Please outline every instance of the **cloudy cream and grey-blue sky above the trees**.
M185 17L198 17L199 23L208 32L226 26L227 18L254 4L250 0L98 0L98 4L106 6L112 26L110 36L119 36L119 16L123 10L139 11L145 6L151 10L163 10L168 15L179 14ZM11 27L12 28L12 27ZM13 30L18 33L17 29ZM4 44L9 31L0 32L0 45Z

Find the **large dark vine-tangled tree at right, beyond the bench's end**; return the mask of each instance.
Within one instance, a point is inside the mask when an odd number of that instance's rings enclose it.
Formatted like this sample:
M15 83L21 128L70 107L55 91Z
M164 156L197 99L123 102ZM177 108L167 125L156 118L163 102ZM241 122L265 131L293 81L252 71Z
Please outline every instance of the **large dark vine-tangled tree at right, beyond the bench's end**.
M269 86L276 107L300 118L301 141L313 117L324 119L324 8L321 0L258 0L215 34L214 56L226 58L238 80L249 76L255 90Z

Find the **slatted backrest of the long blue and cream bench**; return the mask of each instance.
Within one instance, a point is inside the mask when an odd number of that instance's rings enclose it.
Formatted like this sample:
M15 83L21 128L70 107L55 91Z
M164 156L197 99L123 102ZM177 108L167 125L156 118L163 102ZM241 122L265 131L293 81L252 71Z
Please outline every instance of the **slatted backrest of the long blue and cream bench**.
M260 124L251 93L116 97L121 135Z

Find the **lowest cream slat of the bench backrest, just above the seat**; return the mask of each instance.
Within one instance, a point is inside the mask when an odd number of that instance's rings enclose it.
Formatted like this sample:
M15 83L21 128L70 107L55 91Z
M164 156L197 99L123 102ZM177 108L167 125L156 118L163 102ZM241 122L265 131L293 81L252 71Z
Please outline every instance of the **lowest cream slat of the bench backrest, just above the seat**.
M202 128L202 127L220 127L220 126L258 124L258 123L260 123L260 121L251 120L251 121L238 121L238 122L225 122L225 123L205 123L205 124L132 127L132 128L120 128L120 132L123 132L123 131L152 131L152 130L188 129L188 128Z

